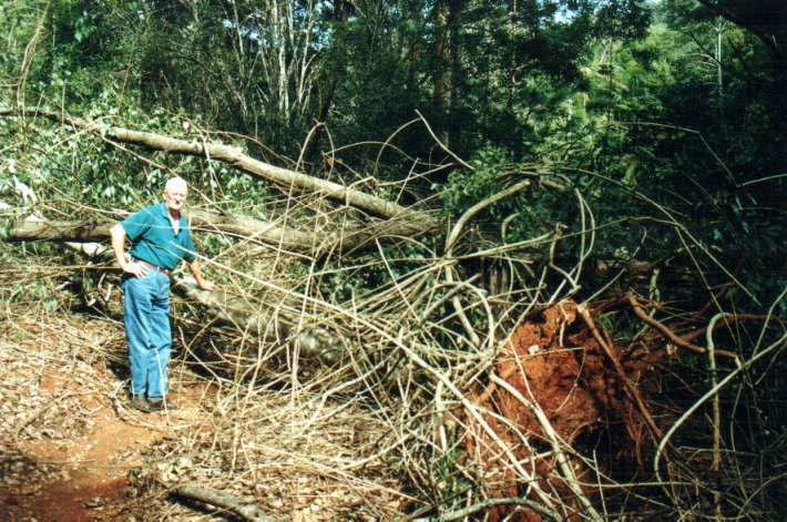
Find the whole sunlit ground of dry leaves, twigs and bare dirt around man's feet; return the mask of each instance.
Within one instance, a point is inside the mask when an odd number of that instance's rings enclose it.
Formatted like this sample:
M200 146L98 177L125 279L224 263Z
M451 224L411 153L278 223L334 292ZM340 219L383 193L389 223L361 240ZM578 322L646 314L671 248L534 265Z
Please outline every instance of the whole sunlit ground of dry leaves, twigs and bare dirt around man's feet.
M182 485L296 522L390 520L411 502L401 477L355 453L389 429L365 408L203 377L176 349L177 409L141 413L125 351L111 318L39 300L0 310L0 522L226 520L174 497Z

